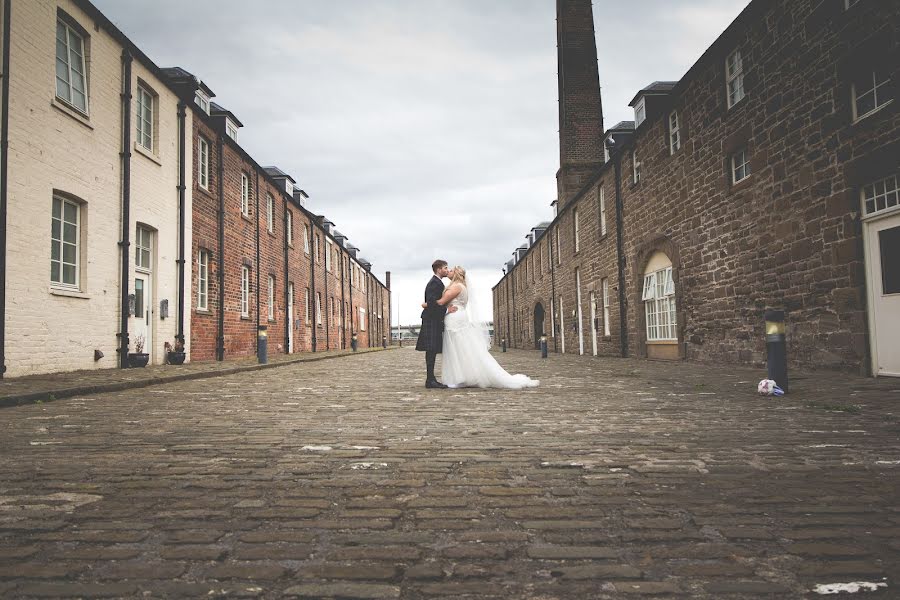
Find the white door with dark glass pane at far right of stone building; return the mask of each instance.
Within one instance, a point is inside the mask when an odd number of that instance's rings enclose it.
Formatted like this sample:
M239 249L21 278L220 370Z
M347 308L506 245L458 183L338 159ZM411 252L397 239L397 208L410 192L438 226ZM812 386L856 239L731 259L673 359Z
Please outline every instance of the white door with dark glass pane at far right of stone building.
M872 371L900 377L900 212L865 224Z

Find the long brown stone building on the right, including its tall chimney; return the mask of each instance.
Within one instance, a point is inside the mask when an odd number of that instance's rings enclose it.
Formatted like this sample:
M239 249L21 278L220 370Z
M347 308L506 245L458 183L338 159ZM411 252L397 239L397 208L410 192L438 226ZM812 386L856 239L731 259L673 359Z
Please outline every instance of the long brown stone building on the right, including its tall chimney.
M498 341L762 365L774 309L793 364L900 375L900 5L754 0L603 144L590 2L557 6L559 197L494 287Z

